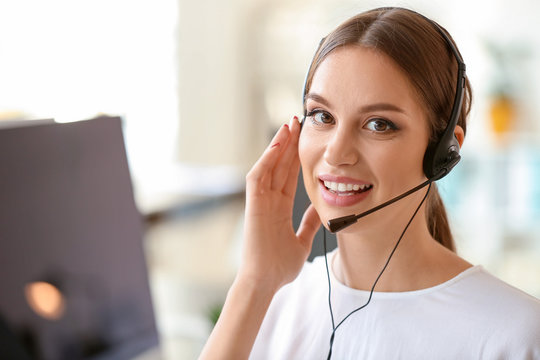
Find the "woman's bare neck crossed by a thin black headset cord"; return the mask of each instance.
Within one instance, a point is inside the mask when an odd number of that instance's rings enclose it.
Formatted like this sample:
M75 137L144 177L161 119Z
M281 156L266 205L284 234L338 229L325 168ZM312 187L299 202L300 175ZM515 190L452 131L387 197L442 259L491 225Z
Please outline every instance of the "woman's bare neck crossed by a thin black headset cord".
M434 286L470 267L431 237L425 204L411 221L422 196L413 195L402 200L408 204L401 210L381 210L369 222L338 233L339 250L332 264L337 279L355 289L371 290L402 235L375 291L411 291Z

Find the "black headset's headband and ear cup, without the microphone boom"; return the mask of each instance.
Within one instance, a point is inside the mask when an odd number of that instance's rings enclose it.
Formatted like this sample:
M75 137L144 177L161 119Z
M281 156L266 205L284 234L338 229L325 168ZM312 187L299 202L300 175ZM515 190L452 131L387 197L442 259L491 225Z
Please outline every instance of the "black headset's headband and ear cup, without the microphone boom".
M446 176L450 172L450 170L452 170L452 168L456 166L456 164L461 159L461 156L459 155L459 150L460 150L459 142L454 135L454 131L456 129L459 115L461 113L461 106L463 104L463 94L464 94L465 83L466 83L466 66L465 66L465 63L463 62L463 59L459 51L457 50L456 46L454 45L450 37L439 26L439 24L437 24L433 20L425 17L424 15L420 13L417 13L416 11L405 9L405 8L383 7L383 8L375 9L373 11L391 10L391 9L406 10L418 16L421 16L425 20L429 21L435 27L435 29L437 29L437 31L442 36L442 38L445 40L446 44L448 45L448 47L454 54L454 57L456 58L456 61L458 64L456 92L455 92L454 104L452 106L452 112L450 113L448 124L446 126L446 129L442 132L442 134L437 136L435 141L430 141L426 149L426 153L424 154L424 160L423 160L424 174L430 181L436 181ZM325 39L326 38L323 38L321 40L315 54L319 52L319 49L322 47ZM311 61L311 66L313 66L313 60ZM311 66L308 70L308 75L311 71ZM307 95L306 94L307 80L308 79L306 75L306 79L304 81L303 95L302 95L303 102L305 102L305 97ZM306 114L306 111L304 110L304 118L302 119L302 125L304 124L306 116L307 114Z

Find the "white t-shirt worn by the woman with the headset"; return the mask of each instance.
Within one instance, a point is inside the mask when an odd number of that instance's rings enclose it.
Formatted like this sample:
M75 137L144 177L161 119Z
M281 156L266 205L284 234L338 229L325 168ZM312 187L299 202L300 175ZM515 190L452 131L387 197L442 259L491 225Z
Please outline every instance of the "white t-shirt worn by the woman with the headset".
M369 291L331 281L337 325ZM275 295L250 359L326 359L331 333L318 257ZM332 359L540 359L540 300L481 266L428 289L374 292L337 329Z

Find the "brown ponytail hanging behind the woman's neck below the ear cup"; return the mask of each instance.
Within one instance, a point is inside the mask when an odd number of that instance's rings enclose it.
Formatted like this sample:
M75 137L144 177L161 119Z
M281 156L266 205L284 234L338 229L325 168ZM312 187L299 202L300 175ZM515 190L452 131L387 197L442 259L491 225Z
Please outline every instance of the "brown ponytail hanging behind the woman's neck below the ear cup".
M456 244L450 231L446 209L435 183L431 185L427 198L426 220L431 236L447 249L456 252Z

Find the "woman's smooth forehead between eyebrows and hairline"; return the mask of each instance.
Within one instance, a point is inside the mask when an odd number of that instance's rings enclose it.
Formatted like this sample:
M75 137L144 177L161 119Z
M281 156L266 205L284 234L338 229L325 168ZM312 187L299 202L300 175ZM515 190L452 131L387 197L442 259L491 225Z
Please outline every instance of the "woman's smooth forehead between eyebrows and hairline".
M347 106L384 102L423 112L401 68L387 55L361 46L332 51L315 71L309 92Z

